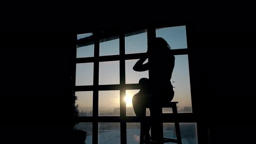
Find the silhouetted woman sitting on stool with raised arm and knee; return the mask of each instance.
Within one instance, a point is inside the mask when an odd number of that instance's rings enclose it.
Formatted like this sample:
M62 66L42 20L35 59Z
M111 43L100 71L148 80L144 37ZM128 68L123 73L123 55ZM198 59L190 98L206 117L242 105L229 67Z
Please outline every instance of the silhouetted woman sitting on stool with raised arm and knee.
M136 62L133 70L137 72L149 70L149 88L147 88L147 91L138 92L132 98L135 114L140 118L141 124L144 124L145 139L150 138L150 127L144 123L146 107L150 109L152 116L157 116L159 115L161 105L170 102L174 97L171 75L175 61L171 47L161 37L157 37L151 43L148 43L147 55ZM148 62L143 64L147 58L149 58Z

